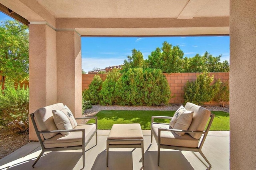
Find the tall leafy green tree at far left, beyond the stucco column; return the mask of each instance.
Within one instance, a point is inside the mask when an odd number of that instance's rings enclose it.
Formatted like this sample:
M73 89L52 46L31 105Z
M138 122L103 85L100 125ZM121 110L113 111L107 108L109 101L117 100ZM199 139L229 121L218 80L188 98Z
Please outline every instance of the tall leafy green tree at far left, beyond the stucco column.
M28 78L28 27L18 21L0 25L0 77L5 81Z

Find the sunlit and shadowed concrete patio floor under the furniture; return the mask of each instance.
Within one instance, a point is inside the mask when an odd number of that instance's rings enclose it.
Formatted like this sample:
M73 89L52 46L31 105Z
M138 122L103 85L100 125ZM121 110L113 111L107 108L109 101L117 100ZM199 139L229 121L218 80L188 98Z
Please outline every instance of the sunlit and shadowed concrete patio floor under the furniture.
M195 152L161 149L160 166L157 166L157 145L150 130L143 130L144 167L141 149L110 149L106 167L106 139L110 130L98 130L98 145L95 137L86 147L84 170L205 170L200 161L204 159ZM204 143L203 153L212 164L212 170L229 169L229 131L210 131ZM32 168L41 152L38 142L30 142L0 160L0 170L80 170L82 150L45 152ZM206 162L205 162L206 164Z

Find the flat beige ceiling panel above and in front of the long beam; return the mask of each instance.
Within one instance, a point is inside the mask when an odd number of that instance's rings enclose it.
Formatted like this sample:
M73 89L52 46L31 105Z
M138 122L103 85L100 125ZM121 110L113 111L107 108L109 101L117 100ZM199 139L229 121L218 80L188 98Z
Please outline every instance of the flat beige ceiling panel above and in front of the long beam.
M228 17L229 0L37 0L56 18Z

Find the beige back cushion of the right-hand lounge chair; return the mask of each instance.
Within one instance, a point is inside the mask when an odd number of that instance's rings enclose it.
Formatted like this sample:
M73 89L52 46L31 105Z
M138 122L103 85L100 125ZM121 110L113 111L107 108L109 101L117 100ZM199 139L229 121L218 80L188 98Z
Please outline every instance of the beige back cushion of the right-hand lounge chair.
M204 131L204 128L206 127L206 124L211 116L211 111L204 107L201 107L189 102L186 103L185 109L189 111L194 111L193 120L188 130L201 131L201 132ZM202 136L202 134L199 134L199 133L189 133L189 134L195 139L200 139L200 137Z

